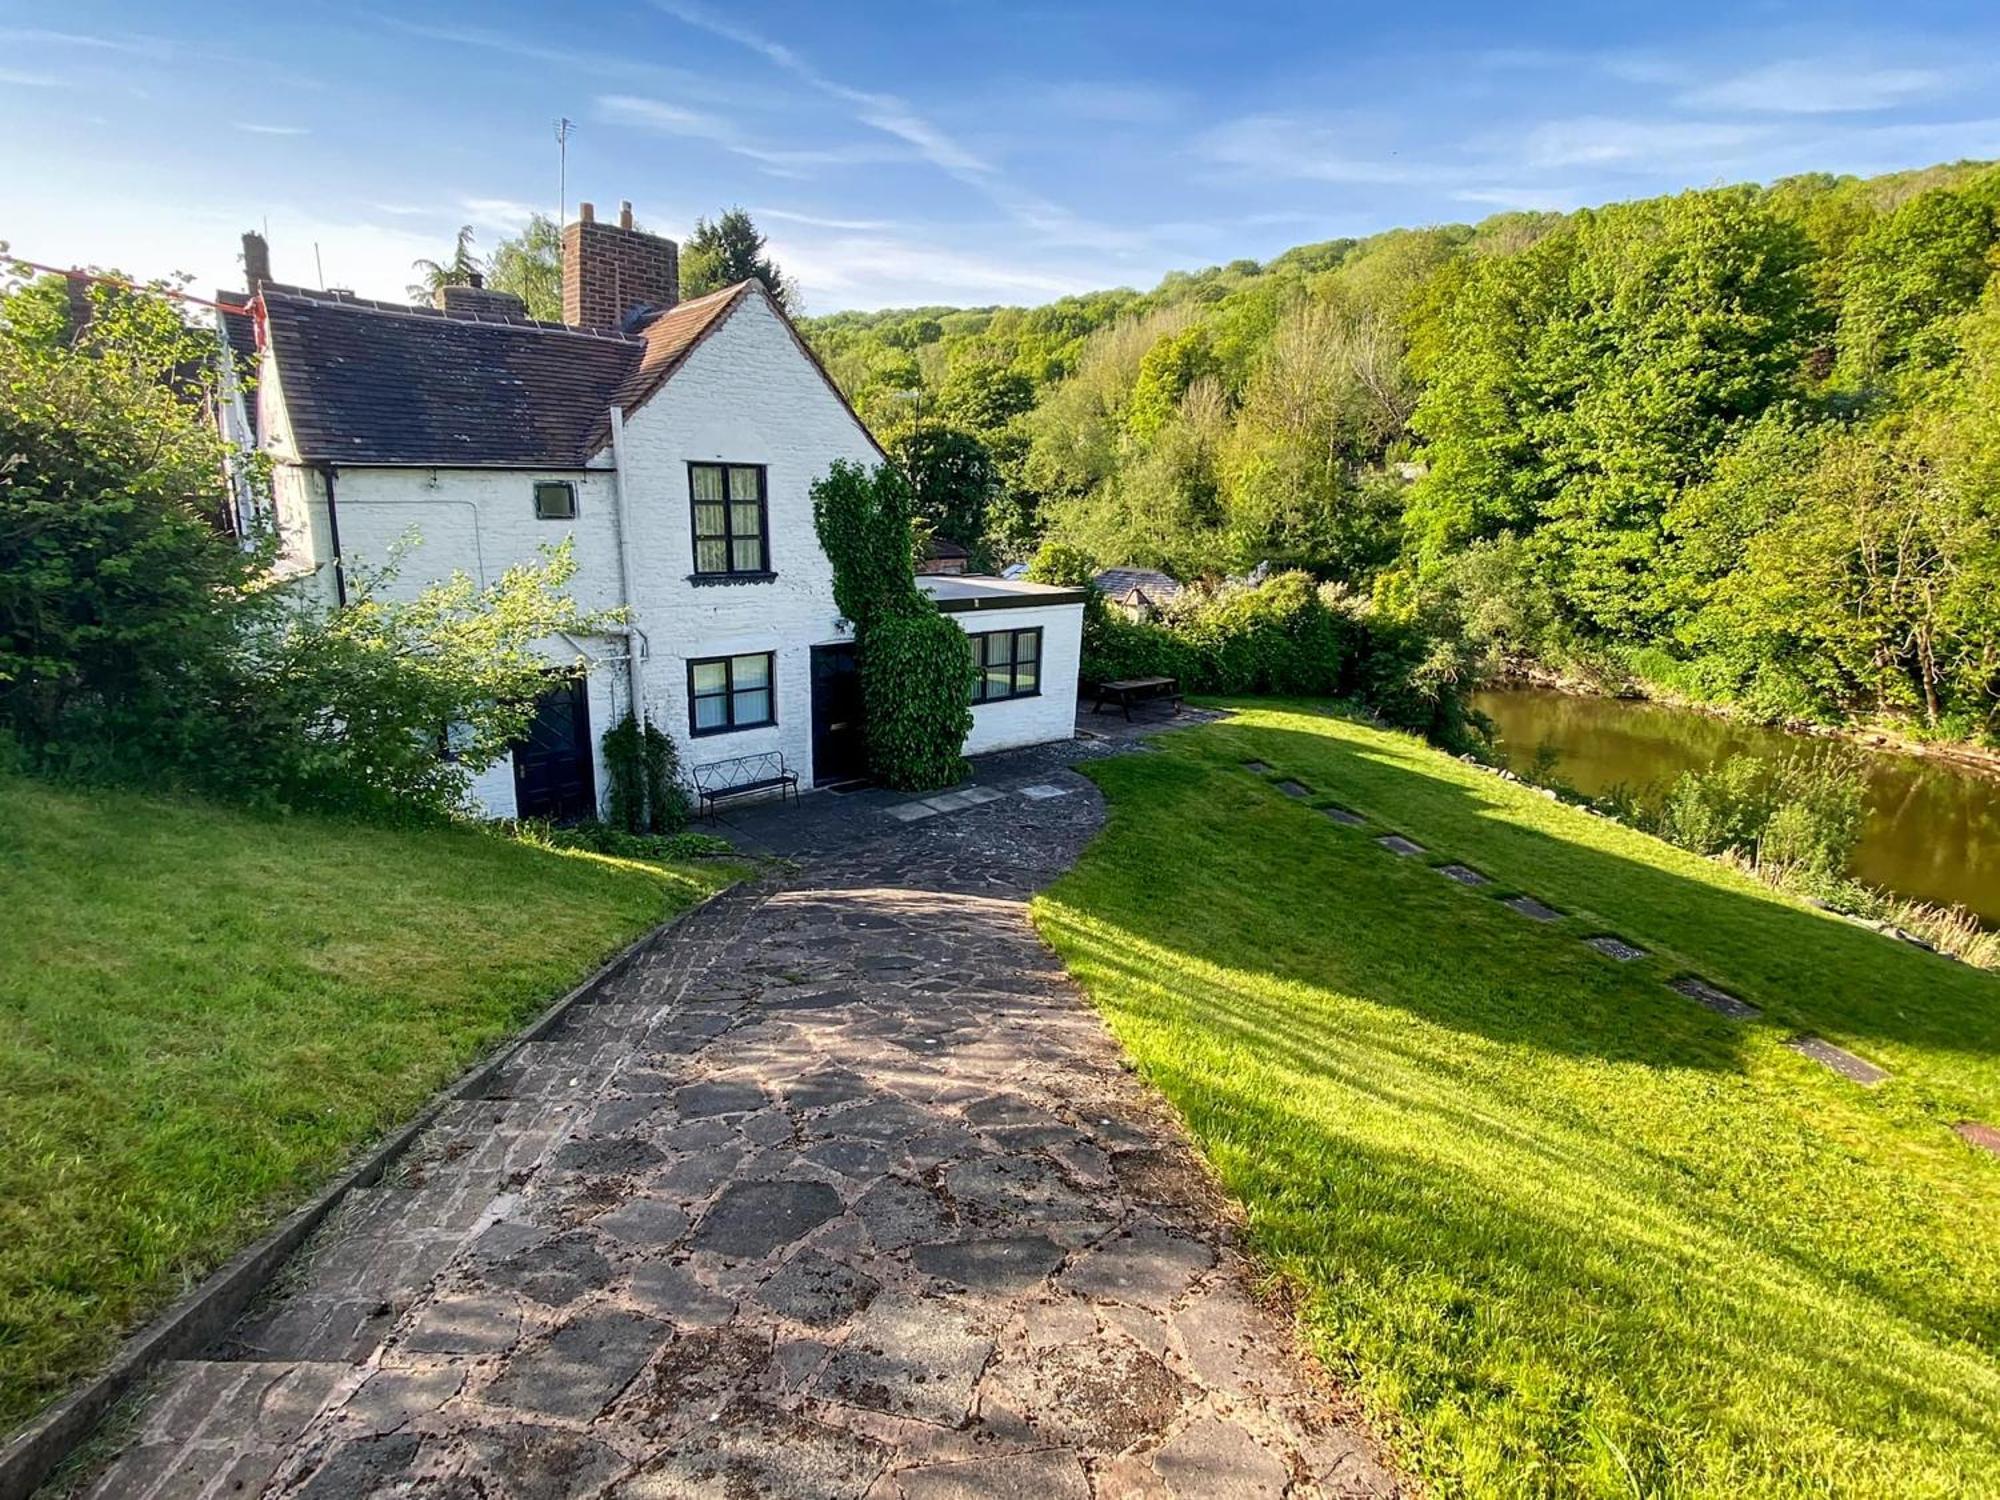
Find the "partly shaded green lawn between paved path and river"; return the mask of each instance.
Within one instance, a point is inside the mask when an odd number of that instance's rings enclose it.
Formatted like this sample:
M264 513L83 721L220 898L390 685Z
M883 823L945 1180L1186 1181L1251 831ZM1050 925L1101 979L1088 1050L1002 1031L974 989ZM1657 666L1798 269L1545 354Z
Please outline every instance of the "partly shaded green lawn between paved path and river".
M2000 1494L2000 1160L1950 1130L2000 1124L2000 982L1310 706L1088 766L1108 826L1036 920L1416 1474ZM1566 920L1496 900L1520 890ZM1834 1076L1800 1030L1894 1078Z

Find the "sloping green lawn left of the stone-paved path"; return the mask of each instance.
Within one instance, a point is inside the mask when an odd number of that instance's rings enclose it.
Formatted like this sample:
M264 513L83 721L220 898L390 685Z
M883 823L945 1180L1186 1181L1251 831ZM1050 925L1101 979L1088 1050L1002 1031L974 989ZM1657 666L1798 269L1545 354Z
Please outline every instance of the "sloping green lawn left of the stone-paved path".
M0 1430L734 874L0 776Z

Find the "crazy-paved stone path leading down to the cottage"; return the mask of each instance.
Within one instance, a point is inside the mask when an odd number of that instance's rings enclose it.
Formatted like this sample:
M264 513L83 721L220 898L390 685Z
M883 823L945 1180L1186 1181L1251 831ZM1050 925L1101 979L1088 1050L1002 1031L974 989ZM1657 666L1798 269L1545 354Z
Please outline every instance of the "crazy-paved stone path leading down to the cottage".
M90 1494L1396 1494L1028 926L1108 748L762 814L786 874L450 1104Z

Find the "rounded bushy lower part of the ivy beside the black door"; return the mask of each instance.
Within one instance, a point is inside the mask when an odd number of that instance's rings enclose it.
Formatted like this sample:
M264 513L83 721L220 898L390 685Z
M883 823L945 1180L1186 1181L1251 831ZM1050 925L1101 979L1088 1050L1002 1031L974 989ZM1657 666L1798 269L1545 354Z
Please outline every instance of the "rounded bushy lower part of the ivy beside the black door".
M862 636L868 762L884 786L922 792L966 774L972 732L972 648L936 610L892 614Z

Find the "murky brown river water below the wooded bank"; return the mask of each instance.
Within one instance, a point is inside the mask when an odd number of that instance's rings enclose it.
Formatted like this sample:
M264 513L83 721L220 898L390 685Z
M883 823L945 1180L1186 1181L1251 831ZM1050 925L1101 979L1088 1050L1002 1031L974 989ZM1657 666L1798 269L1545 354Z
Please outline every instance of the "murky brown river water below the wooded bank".
M1736 754L1778 760L1832 744L1866 766L1868 822L1854 874L1872 886L1952 902L2000 924L2000 778L1944 760L1808 740L1710 714L1624 698L1580 698L1546 688L1472 696L1500 728L1500 750L1524 770L1540 744L1562 752L1556 776L1596 796L1618 782L1666 788L1684 770Z

